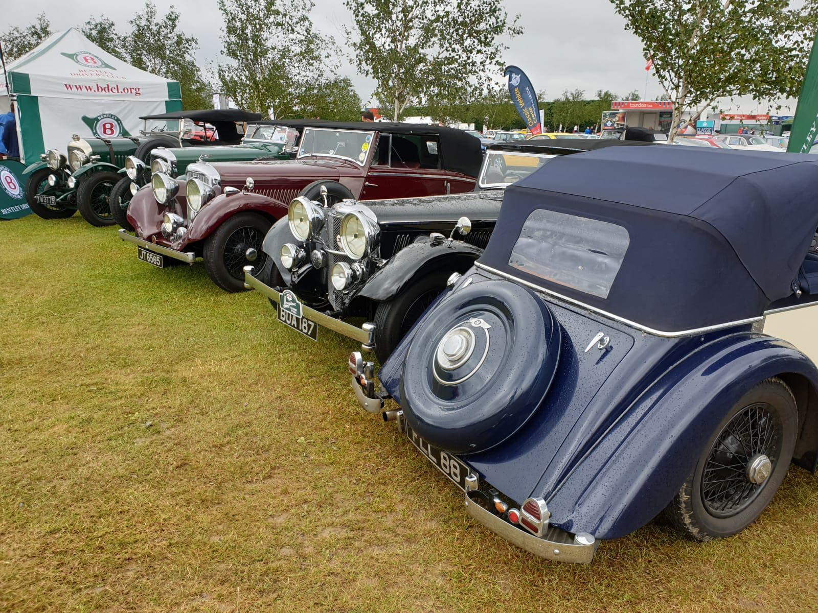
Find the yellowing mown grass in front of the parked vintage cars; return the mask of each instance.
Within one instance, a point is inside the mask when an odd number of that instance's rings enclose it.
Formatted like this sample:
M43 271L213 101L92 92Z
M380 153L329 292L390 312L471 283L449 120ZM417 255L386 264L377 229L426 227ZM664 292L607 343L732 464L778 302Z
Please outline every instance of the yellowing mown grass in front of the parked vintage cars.
M0 223L0 611L811 611L818 480L694 544L658 522L590 566L465 517L364 414L353 343L290 333L201 265L79 216Z

